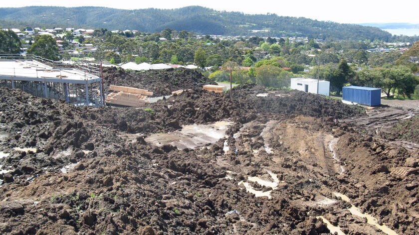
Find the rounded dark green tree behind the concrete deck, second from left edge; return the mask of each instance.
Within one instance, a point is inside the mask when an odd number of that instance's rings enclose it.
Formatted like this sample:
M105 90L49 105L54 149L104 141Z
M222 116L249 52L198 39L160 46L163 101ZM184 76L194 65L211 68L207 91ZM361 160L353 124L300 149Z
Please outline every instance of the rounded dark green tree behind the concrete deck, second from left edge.
M35 37L35 42L27 49L27 53L49 60L59 60L57 42L49 35Z

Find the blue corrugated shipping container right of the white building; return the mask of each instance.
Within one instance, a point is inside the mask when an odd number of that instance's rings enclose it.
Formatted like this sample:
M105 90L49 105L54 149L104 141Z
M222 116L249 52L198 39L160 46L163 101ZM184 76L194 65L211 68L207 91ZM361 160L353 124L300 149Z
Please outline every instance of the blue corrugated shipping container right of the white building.
M381 105L381 89L372 87L343 87L342 99L361 105Z

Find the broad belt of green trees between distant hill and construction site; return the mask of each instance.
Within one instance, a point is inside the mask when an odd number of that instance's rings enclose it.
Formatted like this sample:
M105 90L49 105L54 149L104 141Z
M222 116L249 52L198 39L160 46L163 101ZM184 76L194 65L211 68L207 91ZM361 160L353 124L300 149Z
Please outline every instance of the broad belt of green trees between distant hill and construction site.
M0 31L1 32L1 31ZM4 37L1 35L8 35ZM4 31L1 45L15 45L17 36ZM96 29L92 38L74 37L67 32L61 38L65 49L79 43L93 43L91 54L97 60L113 64L136 62L196 64L206 76L217 82L257 83L266 87L289 87L289 78L311 77L331 82L331 91L339 95L342 87L352 84L382 88L388 96L418 97L419 42L411 48L395 48L397 44L382 41L329 41L313 39L291 41L290 38L238 38L220 40L211 36L196 37L185 30L166 28L156 33L119 32ZM164 39L164 40L162 40ZM381 50L383 47L388 50ZM36 36L28 53L58 59L56 42L50 36ZM390 48L392 50L390 50ZM15 53L2 47L3 53ZM46 50L48 48L48 50ZM380 49L380 50L375 50ZM403 50L402 50L403 49ZM404 51L406 50L406 51ZM70 55L61 55L70 59ZM204 69L206 68L206 69Z

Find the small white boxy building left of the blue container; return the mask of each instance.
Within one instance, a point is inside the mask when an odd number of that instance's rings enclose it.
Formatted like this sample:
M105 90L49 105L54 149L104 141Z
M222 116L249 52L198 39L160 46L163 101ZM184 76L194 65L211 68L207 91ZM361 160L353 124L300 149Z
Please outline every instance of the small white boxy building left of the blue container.
M329 96L330 82L319 80L319 94ZM291 78L291 89L317 94L317 79Z

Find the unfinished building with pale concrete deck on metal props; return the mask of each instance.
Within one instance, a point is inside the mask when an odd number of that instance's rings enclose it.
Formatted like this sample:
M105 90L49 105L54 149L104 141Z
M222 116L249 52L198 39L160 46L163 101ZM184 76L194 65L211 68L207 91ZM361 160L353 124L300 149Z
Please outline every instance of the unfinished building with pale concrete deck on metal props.
M35 55L0 54L0 87L76 106L104 105L99 68L48 60Z

